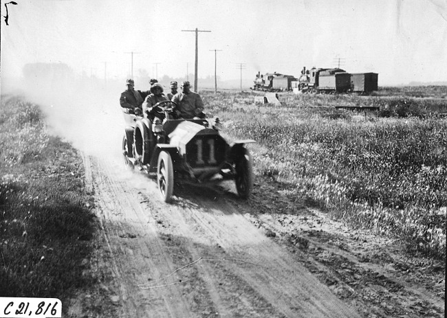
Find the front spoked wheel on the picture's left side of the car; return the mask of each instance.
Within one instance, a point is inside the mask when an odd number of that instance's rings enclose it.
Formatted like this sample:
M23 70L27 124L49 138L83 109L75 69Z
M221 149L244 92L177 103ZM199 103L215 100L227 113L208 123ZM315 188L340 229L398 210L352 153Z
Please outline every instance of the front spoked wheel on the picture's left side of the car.
M171 201L174 190L174 168L171 155L166 151L158 155L157 185L163 201Z

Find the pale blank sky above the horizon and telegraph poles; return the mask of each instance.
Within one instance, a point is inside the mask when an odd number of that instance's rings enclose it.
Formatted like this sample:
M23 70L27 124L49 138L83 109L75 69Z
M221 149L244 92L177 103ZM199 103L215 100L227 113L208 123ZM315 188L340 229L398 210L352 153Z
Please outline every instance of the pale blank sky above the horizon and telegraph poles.
M9 1L9 0L8 0ZM88 75L223 80L305 67L379 73L379 85L447 81L447 0L15 0L1 19L1 76L25 63L67 63ZM7 1L1 1L2 16ZM158 64L155 64L158 63ZM107 65L107 66L106 66Z

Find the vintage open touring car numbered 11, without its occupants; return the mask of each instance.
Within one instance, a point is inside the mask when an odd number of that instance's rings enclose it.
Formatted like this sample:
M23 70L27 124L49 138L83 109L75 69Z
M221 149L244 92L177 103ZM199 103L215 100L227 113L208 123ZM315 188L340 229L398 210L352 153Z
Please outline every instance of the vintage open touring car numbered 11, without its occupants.
M206 119L171 119L177 104L168 100L154 109L164 115L153 121L122 109L126 121L122 155L127 168L138 167L156 178L163 201L171 201L177 181L207 183L234 179L242 198L250 195L253 183L252 157L245 144L228 144L217 125Z

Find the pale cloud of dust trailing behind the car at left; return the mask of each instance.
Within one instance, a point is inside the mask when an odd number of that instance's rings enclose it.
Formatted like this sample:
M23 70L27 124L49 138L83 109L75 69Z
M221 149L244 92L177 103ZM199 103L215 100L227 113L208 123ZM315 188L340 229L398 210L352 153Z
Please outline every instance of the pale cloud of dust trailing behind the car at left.
M48 133L61 137L85 155L100 158L108 175L127 183L129 189L158 196L156 183L148 182L145 174L124 169L125 123L120 94L126 88L125 79L122 82L91 78L55 81L52 76L37 74L31 80L30 76L2 78L1 94L21 95L28 102L38 104L45 115Z

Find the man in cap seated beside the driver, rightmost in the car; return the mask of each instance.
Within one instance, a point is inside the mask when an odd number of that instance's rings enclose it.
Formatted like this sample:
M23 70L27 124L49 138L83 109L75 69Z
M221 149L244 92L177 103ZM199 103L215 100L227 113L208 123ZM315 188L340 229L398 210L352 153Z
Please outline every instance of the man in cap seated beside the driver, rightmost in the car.
M191 85L188 81L182 82L180 87L182 91L175 94L172 99L177 104L177 115L185 120L201 117L204 103L201 101L200 95L190 91Z

